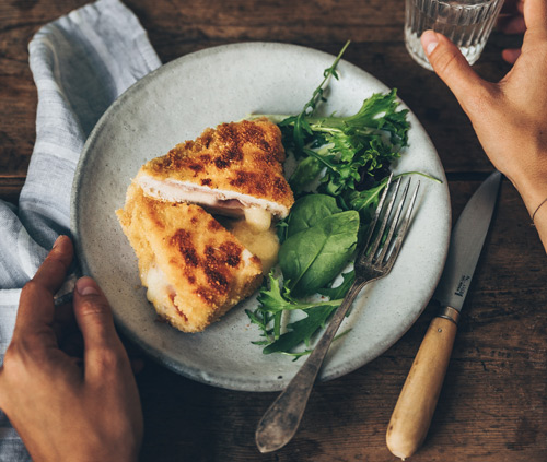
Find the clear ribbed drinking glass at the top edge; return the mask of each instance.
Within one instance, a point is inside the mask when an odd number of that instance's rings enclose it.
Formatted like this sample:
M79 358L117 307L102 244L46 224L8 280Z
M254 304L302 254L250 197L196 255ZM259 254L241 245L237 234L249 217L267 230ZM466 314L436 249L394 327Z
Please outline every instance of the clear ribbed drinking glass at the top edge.
M456 44L473 64L485 48L502 4L503 0L406 0L407 50L419 64L432 70L420 36L424 31L433 29Z

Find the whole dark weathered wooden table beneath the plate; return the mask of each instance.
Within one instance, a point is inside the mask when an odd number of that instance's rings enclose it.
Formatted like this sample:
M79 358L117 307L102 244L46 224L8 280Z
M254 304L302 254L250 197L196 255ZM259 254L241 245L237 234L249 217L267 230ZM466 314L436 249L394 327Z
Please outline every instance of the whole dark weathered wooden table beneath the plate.
M36 91L27 44L38 27L81 0L0 2L0 198L16 202L35 140ZM456 218L492 170L453 95L417 66L403 43L397 0L127 0L163 62L214 45L274 40L337 54L372 73L415 111L446 169ZM509 70L494 34L475 69ZM512 185L504 180L429 436L412 461L547 460L547 266ZM260 454L256 424L276 393L193 382L155 364L138 377L143 461L395 461L385 446L393 407L433 316L429 306L384 355L316 386L301 428L284 449Z

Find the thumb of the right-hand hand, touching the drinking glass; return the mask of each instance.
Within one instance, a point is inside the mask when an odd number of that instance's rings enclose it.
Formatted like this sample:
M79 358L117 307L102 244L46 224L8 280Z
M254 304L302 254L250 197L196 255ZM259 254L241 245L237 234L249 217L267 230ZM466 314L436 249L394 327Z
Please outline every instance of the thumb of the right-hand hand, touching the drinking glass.
M426 31L421 45L435 73L468 112L477 97L482 99L490 84L475 73L459 49L444 35Z

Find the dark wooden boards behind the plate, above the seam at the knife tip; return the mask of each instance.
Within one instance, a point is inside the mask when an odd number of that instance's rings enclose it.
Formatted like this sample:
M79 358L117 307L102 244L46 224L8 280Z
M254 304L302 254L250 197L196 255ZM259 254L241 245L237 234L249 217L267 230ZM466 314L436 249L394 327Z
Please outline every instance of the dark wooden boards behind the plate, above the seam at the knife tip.
M28 69L27 45L40 25L83 5L81 0L21 1L0 5L0 173L24 176L35 138L36 91ZM454 97L431 72L408 56L403 43L399 2L257 1L173 2L131 0L164 62L235 42L294 43L337 54L353 42L346 59L399 90L430 133L447 171L486 171L489 162ZM487 47L477 70L492 80L508 68L500 47ZM468 156L463 153L473 152Z

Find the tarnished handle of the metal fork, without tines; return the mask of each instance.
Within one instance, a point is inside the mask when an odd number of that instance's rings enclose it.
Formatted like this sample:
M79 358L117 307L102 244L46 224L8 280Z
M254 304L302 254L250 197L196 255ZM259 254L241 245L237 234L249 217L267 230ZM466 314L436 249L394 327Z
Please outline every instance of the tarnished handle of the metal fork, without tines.
M362 281L353 283L310 357L258 423L255 440L260 452L271 452L282 448L296 433L328 347L348 308L364 285Z

